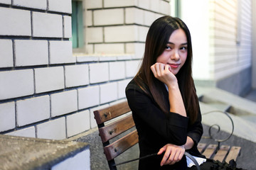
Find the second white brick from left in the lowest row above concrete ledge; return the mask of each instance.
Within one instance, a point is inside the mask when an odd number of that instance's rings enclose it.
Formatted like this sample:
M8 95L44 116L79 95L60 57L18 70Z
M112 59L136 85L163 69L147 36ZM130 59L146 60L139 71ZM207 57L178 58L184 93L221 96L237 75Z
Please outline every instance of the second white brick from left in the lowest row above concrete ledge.
M49 140L63 140L65 135L65 118L50 120L36 125L37 137Z

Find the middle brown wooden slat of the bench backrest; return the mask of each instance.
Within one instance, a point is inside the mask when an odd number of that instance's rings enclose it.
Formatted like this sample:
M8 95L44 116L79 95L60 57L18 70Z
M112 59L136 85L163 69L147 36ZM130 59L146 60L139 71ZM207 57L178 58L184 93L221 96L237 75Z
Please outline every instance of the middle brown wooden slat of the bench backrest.
M102 138L102 142L107 142L111 140L113 137L129 130L134 127L134 120L132 115L127 115L126 117L115 121L110 125L106 125L105 127L99 128L100 137Z

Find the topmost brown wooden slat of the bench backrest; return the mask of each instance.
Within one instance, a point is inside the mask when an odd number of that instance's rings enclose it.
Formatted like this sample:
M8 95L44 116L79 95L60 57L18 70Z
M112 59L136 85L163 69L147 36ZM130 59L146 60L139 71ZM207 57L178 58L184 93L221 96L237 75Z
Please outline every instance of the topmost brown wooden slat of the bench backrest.
M129 111L131 111L131 109L129 108L127 101L124 101L114 106L94 111L93 113L95 114L95 120L97 122L97 125L99 125L101 123L105 123L107 120L116 118L119 115L128 113Z

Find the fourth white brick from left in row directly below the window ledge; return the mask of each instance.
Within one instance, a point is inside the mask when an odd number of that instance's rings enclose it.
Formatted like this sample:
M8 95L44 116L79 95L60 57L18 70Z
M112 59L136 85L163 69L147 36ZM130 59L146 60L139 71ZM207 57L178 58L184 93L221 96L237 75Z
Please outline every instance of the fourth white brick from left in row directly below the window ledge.
M90 70L90 83L100 83L109 80L109 67L108 63L89 64Z

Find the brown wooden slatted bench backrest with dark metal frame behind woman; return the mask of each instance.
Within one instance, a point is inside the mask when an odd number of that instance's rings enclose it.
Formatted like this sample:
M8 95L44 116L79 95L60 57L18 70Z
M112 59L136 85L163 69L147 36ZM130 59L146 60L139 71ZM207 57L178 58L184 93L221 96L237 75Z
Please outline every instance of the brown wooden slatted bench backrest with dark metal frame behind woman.
M137 130L132 130L121 138L118 137L135 125L131 109L127 101L124 101L93 113L99 128L107 162L111 170L117 169L114 158L138 142Z

